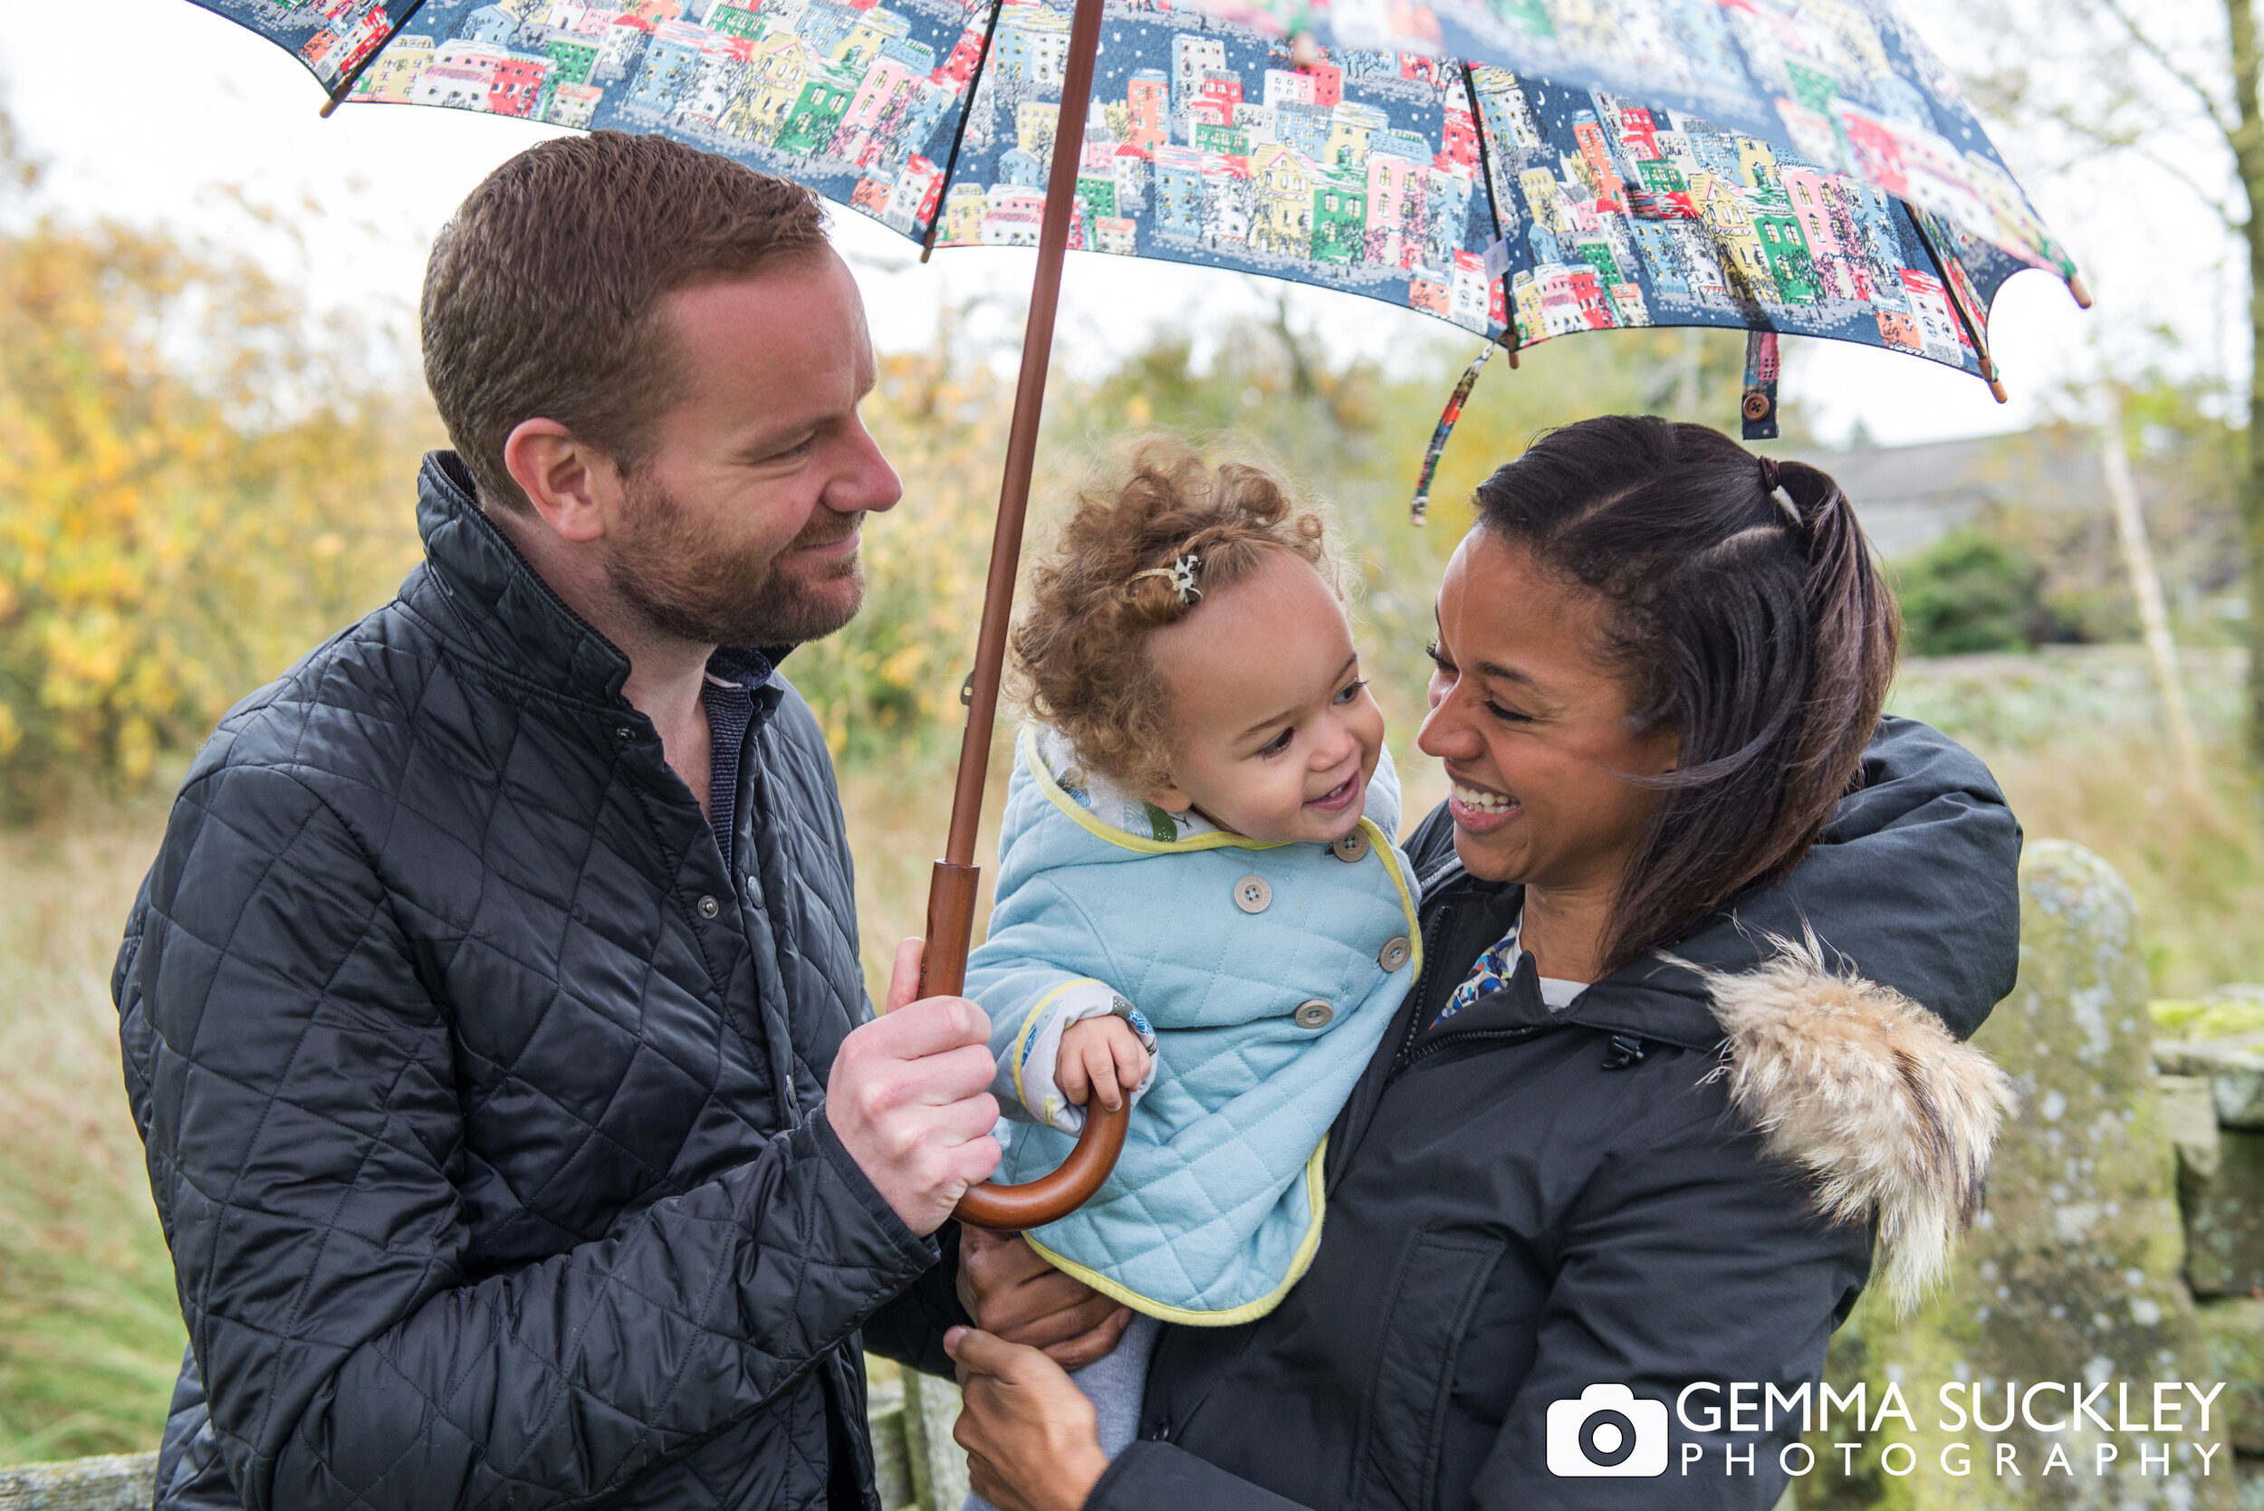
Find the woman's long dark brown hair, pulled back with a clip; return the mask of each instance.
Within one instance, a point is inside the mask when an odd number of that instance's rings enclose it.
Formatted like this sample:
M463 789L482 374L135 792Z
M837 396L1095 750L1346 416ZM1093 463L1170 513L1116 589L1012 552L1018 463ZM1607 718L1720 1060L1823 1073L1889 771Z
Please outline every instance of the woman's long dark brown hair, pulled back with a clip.
M1789 504L1789 507L1786 507ZM1621 966L1791 871L1861 776L1902 622L1829 473L1603 416L1478 489L1478 525L1603 595L1639 731L1680 753L1607 930Z

